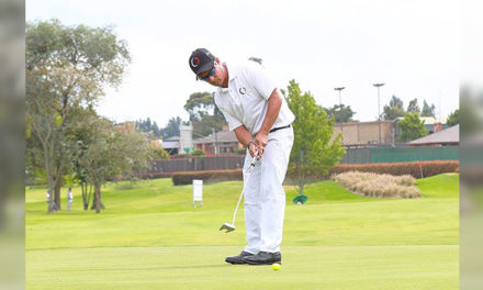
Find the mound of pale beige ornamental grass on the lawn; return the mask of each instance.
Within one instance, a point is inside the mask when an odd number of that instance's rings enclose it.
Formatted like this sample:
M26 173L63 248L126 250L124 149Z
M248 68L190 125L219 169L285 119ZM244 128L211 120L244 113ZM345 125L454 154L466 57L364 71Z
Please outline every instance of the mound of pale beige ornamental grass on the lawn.
M371 198L420 198L412 176L349 171L333 176L336 182L357 194Z

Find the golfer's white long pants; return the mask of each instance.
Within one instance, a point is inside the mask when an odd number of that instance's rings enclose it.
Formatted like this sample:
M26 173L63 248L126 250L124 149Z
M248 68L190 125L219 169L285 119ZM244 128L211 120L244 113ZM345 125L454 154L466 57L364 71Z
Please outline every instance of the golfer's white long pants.
M246 174L251 161L247 152L244 166L245 227L248 245L245 252L280 252L283 219L285 213L285 179L290 152L293 145L293 129L278 130L268 135L268 144L261 159L256 164L246 183Z

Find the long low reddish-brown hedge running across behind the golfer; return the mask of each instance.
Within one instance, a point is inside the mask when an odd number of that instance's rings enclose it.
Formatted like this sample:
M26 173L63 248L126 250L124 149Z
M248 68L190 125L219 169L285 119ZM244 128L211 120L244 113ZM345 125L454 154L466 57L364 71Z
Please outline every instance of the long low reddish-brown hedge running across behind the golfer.
M458 160L433 160L422 161L423 177L456 172L459 169ZM333 168L329 176L347 171L361 171L374 174L387 174L393 176L411 175L414 178L420 178L418 161L412 163L379 163L379 164L339 164ZM156 175L156 174L149 174ZM165 172L164 175L169 175ZM178 171L171 172L172 183L175 186L191 185L193 179L207 181L243 180L242 169L229 170L200 170L200 171ZM291 167L288 170L288 177L295 178L296 168ZM328 176L315 176L317 179L327 179Z

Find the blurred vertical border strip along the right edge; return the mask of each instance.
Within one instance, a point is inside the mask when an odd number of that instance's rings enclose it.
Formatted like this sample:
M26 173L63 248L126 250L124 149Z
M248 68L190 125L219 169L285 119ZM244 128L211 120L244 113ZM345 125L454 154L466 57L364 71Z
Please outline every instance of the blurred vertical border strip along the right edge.
M461 2L460 289L483 287L483 62L476 1Z

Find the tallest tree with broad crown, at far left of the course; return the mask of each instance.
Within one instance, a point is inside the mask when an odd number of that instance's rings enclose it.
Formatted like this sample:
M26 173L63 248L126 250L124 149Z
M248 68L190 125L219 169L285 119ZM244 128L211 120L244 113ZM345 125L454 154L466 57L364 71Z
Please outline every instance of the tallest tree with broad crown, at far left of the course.
M40 144L30 149L60 205L61 177L74 154L71 112L94 104L105 86L119 86L131 56L112 27L64 26L58 20L27 23L25 44L27 137Z

